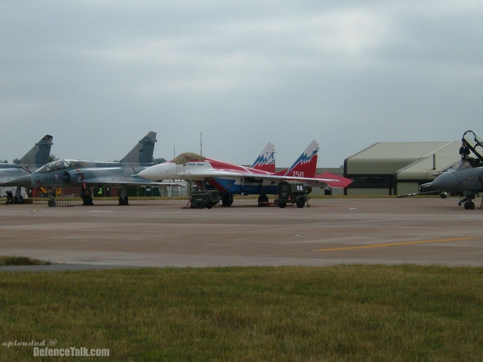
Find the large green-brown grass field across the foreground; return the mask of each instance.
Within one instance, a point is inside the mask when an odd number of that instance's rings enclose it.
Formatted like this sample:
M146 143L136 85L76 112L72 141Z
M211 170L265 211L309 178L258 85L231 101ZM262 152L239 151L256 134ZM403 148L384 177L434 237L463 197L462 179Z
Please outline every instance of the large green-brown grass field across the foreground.
M481 361L482 277L414 265L2 272L0 334L110 349L91 361ZM0 361L39 360L1 348Z

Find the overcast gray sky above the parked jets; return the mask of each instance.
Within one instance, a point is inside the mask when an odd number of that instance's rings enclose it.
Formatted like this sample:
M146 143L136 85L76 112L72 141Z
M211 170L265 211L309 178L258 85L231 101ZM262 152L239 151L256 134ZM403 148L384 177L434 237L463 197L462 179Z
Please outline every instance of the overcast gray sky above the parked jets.
M483 134L483 2L0 2L0 159L43 135L61 158L250 164L268 141L319 167L378 141Z

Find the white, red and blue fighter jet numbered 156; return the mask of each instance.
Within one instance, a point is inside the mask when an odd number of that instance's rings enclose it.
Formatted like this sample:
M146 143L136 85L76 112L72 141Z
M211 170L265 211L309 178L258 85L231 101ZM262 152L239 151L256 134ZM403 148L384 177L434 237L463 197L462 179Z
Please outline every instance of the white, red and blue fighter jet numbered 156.
M149 180L191 180L200 188L213 187L220 192L222 204L230 206L233 195L259 195L258 203L277 195L283 180L301 181L308 187L345 187L352 182L341 177L326 179L315 175L319 145L312 141L288 169L275 173L274 148L269 142L252 167L214 160L197 153L181 153L171 161L148 167L138 176Z

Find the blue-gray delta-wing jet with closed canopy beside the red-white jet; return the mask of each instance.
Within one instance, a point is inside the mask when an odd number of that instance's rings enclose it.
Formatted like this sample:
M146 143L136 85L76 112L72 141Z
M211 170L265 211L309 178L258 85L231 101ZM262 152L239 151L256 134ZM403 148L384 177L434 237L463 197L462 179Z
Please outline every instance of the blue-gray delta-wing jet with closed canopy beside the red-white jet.
M144 168L155 165L153 161L156 132L149 132L119 162L94 162L81 160L57 160L37 171L9 182L22 187L46 187L49 206L55 206L54 187L81 187L83 205L93 205L91 186L121 186L119 205L128 205L128 186L170 186L179 183L154 182L140 176L132 176Z

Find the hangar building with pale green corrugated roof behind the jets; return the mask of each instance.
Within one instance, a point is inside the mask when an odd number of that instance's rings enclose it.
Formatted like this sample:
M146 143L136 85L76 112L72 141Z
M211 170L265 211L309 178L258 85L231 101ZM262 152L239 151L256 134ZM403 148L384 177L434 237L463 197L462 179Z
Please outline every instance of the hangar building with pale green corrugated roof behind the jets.
M344 195L406 195L461 157L461 141L377 142L344 160Z

